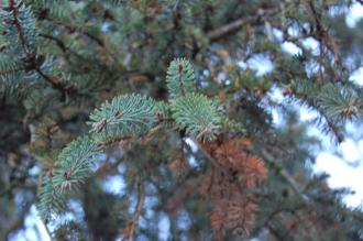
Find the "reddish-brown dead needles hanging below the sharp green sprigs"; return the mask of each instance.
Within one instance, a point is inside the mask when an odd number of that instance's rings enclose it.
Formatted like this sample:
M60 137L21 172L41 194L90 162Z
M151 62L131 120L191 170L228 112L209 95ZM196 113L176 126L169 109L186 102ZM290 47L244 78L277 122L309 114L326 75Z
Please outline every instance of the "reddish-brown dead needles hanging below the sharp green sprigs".
M267 171L258 156L246 152L251 144L248 139L201 143L213 165L199 191L215 204L210 221L217 239L228 232L249 234L253 228L257 204L249 190L265 179Z

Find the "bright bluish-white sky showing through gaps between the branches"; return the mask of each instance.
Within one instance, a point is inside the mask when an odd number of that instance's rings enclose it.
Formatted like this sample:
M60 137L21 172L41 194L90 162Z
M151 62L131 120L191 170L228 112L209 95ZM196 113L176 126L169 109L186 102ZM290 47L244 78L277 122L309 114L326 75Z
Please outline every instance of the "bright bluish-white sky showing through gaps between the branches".
M331 10L331 14L339 15L337 18L337 25L342 25L348 28L346 30L342 30L342 34L346 32L353 32L356 35L360 35L361 39L359 41L363 41L363 6L359 2L355 2L350 7L348 11L342 11L337 9ZM342 19L341 15L344 18ZM342 21L343 20L343 21ZM107 30L108 25L103 25L103 29ZM292 30L293 31L293 30ZM339 28L336 29L339 31ZM277 30L273 31L274 37L277 40L282 37L282 32ZM349 40L345 40L349 41ZM302 43L305 47L314 51L318 51L319 43L314 40L312 37L306 39ZM363 45L363 42L359 42L358 44ZM300 53L300 48L288 41L284 41L280 43L283 50L293 55L297 55ZM272 63L268 58L264 55L256 54L255 56L249 58L248 62L239 62L238 65L241 69L253 69L256 72L257 76L268 75L271 72L274 70L274 63ZM226 81L226 76L222 74L218 76L220 81ZM363 66L356 68L351 75L350 79L356 83L360 86L363 86ZM282 106L285 105L285 96L280 88L272 88L268 92L271 99L276 101L276 103L280 103ZM318 113L311 109L304 108L297 103L294 103L295 108L298 109L298 119L299 122L307 124L307 131L309 136L315 136L320 140L320 145L317 145L314 149L312 155L316 156L315 161L311 163L311 168L315 173L327 173L328 184L332 188L350 188L351 194L344 194L343 201L346 206L351 208L361 209L363 207L363 128L361 122L350 122L345 125L345 131L348 133L346 139L337 144L332 141L330 135L322 133L321 130L315 124L316 119L318 118ZM278 127L287 125L286 119L280 112L280 108L271 108L272 116L273 116L273 124ZM193 142L190 142L190 146L193 147ZM121 153L122 154L122 153ZM106 158L106 156L105 156ZM190 161L193 163L193 160ZM120 174L124 173L125 166L120 164L118 166L118 171ZM97 167L95 167L97 169ZM38 165L34 165L30 171L30 175L38 175L41 172L41 167ZM113 175L108 176L102 180L101 188L105 190L106 194L122 196L127 193L127 185L123 175ZM1 197L0 197L1 198ZM20 206L24 204L24 197L22 194L18 193L15 196L15 202ZM131 198L132 199L132 198ZM133 198L134 202L136 201ZM25 201L26 202L26 201ZM155 200L152 198L146 199L145 206L153 207ZM26 202L28 204L28 202ZM1 207L6 209L7 207ZM20 240L40 240L40 241L48 241L50 232L55 227L59 226L64 222L69 222L72 220L79 219L79 217L84 217L85 213L82 211L82 207L77 201L69 202L69 209L72 212L67 212L62 218L57 220L57 222L48 224L46 227L44 222L40 219L38 212L36 209L35 204L32 204L29 207L29 211L23 213L24 217L24 226L20 229L14 229L13 232L10 233L9 240L10 241L20 241ZM147 208L146 212L147 212ZM147 215L147 213L146 213ZM179 224L183 228L183 224L188 226L187 217L179 217L180 221ZM185 220L184 220L185 218ZM142 221L141 221L142 222ZM158 230L158 240L173 240L170 237L170 221L169 217L165 215L160 216L158 223L155 223L156 229ZM119 238L118 240L121 240ZM252 240L257 240L252 239Z

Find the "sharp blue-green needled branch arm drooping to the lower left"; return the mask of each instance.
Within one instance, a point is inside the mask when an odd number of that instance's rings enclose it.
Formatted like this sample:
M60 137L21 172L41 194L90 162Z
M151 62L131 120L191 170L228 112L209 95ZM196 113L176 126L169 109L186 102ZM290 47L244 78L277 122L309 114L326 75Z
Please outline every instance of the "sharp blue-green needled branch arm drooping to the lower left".
M77 190L91 173L101 150L116 141L151 131L156 122L154 100L141 95L116 97L90 114L90 135L70 142L58 155L40 190L40 211L50 218L65 207L66 194Z

